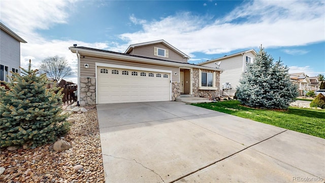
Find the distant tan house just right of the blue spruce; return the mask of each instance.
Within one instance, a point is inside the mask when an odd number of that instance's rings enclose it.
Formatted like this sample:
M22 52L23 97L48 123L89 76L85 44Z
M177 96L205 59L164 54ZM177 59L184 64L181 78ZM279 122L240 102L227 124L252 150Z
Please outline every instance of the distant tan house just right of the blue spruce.
M291 73L290 81L298 85L300 96L305 96L311 89L311 82L305 73Z

